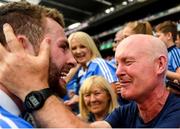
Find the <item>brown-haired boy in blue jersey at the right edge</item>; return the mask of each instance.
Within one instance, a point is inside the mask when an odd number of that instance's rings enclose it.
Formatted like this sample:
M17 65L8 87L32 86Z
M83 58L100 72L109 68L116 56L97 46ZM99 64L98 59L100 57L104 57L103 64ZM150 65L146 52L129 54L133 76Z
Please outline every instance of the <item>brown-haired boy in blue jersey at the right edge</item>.
M158 24L155 30L156 36L165 43L168 49L167 79L180 82L180 49L175 45L177 26L172 21L164 21Z

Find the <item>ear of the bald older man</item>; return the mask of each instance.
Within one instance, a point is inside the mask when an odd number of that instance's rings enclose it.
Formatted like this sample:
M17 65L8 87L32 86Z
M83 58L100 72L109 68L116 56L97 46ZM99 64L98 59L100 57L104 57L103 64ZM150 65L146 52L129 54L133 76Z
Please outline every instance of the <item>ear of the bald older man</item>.
M167 69L167 58L164 55L161 55L157 60L157 73L161 74L166 69Z

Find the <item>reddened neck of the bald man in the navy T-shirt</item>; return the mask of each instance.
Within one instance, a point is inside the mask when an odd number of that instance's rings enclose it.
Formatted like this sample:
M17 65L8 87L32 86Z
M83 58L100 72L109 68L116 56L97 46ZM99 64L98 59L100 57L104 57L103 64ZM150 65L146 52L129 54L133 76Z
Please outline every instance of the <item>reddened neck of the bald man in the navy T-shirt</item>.
M143 103L138 104L139 114L145 123L154 119L165 105L169 92L163 88L153 92Z

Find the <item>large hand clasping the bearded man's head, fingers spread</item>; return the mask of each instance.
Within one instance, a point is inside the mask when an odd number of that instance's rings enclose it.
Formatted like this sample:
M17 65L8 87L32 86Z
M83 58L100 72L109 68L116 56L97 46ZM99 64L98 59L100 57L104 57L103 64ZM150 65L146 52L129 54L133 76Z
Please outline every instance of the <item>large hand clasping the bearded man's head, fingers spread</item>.
M25 52L9 24L3 31L9 51L0 44L0 83L24 100L29 92L48 87L50 40L45 38L34 56Z

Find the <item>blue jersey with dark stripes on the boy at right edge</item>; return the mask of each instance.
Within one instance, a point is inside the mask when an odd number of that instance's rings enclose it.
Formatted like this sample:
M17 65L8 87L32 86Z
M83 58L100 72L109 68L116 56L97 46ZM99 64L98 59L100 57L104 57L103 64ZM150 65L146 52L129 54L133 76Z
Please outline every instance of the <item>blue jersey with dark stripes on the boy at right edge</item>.
M168 70L176 72L176 69L180 67L180 48L175 45L168 48Z

